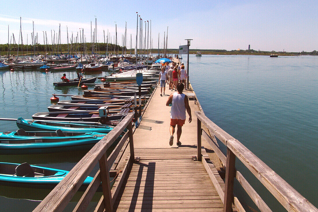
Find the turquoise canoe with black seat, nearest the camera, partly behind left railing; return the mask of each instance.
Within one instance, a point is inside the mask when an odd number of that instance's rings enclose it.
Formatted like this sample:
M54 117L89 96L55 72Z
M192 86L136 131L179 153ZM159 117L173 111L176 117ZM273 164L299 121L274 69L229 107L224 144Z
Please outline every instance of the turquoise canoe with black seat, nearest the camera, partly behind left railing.
M27 187L38 189L53 189L68 174L68 171L30 166L27 163L0 162L0 185ZM87 177L79 191L85 191L93 177Z

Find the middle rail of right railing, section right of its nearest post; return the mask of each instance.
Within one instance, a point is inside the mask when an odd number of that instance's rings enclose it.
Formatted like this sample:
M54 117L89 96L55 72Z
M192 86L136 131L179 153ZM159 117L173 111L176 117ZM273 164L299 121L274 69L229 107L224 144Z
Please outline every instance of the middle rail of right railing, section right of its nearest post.
M266 203L263 201L263 199L257 194L257 192L253 189L253 187L245 180L243 175L236 171L236 179L239 181L241 186L244 188L246 193L251 197L252 201L255 203L255 205L264 212L271 212L272 210L266 205Z

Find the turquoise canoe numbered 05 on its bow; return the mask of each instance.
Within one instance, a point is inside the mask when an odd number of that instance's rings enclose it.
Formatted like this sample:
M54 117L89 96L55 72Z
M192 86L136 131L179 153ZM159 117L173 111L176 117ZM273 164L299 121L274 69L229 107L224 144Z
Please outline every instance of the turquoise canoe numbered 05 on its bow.
M27 121L21 117L17 119L17 126L26 131L70 131L70 132L99 132L108 133L114 127L104 124L73 124L58 121Z

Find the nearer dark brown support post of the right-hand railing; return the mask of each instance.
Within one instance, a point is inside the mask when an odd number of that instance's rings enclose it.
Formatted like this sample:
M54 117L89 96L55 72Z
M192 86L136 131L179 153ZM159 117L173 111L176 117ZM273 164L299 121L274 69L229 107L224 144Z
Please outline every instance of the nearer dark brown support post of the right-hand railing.
M225 192L224 192L224 212L232 211L234 200L233 187L235 177L235 154L227 147L226 150L226 170L225 170Z

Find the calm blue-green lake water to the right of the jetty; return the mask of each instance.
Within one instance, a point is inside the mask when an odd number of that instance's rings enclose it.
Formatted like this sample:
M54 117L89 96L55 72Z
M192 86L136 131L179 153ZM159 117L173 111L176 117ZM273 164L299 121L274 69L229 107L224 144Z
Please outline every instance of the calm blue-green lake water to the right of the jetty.
M189 62L205 115L318 207L318 57L191 55ZM280 211L236 161L269 207Z

